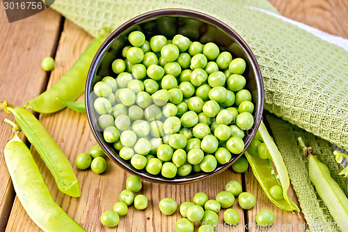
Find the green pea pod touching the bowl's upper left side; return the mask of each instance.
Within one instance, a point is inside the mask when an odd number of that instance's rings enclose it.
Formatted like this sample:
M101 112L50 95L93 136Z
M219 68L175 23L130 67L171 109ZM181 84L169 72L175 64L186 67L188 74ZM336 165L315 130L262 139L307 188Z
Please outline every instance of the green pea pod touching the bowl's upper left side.
M72 68L54 86L38 95L38 97L26 102L24 108L29 108L39 113L51 114L66 107L56 98L67 101L77 100L84 93L90 63L92 63L97 49L102 45L102 42L110 31L111 29L109 28L104 29L104 33L100 33L100 36L90 43L84 53L72 65Z

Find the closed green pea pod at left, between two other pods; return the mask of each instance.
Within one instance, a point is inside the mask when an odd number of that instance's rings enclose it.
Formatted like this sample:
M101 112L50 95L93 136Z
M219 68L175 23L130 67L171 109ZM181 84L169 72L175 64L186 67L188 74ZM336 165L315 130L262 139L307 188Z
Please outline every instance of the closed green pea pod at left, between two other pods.
M47 168L51 171L58 189L69 196L81 196L77 177L68 158L40 121L30 111L22 107L13 108L8 105L8 102L0 102L0 108L3 108L7 113L10 111L15 116L26 138L33 144Z

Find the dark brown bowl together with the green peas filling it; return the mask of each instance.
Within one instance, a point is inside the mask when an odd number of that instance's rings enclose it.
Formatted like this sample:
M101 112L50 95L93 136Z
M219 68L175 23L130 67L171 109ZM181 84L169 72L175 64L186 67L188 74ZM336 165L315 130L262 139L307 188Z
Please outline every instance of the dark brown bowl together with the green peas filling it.
M241 38L192 17L140 15L106 39L89 71L86 108L97 141L145 180L187 183L222 171L260 123L262 81L250 49L242 55Z

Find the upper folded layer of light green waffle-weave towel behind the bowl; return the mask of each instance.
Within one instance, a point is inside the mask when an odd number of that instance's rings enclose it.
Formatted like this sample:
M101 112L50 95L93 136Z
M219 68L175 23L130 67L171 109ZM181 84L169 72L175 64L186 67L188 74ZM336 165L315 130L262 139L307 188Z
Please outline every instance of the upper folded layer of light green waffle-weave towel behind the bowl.
M52 8L93 36L159 8L212 15L253 50L264 79L265 109L348 150L348 52L275 17L266 0L56 0Z

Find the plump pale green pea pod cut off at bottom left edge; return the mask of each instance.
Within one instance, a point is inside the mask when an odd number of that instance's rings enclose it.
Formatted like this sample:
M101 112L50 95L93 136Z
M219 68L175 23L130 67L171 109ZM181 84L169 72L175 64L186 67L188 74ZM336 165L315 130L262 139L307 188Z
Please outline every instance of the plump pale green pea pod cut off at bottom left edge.
M52 199L30 150L17 134L6 144L5 161L19 201L43 231L85 231Z

